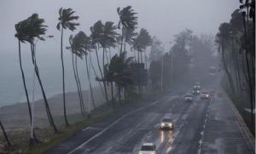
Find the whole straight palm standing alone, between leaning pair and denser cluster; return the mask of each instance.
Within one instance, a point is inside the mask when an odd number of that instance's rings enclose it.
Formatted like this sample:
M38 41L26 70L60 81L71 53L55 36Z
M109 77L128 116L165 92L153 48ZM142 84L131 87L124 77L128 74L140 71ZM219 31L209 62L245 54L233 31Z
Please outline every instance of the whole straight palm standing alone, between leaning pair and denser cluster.
M65 95L65 69L63 62L63 30L69 29L70 31L74 31L76 26L79 26L79 23L73 22L73 20L78 20L79 16L74 16L75 11L73 9L59 9L59 23L57 24L57 29L61 31L61 65L62 65L62 91L63 91L63 107L64 107L64 119L66 126L68 126L67 122L67 111L66 111L66 95Z

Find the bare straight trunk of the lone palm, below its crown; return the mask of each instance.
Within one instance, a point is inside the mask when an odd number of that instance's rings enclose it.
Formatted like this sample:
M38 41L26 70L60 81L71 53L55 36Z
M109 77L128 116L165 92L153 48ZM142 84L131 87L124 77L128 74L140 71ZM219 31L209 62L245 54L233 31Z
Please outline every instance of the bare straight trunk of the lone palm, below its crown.
M65 93L65 68L63 61L63 27L61 27L61 66L62 66L62 92L63 92L63 111L66 127L69 126L67 122L67 110L66 110L66 93Z

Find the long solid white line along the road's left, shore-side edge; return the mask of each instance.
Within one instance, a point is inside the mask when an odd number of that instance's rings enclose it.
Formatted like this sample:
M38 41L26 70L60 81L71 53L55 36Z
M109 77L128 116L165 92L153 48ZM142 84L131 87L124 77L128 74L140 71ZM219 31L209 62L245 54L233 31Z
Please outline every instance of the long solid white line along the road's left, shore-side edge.
M166 97L167 97L167 96L166 96ZM164 97L164 98L166 98L166 97ZM164 98L162 98L162 100L163 100ZM174 96L174 97L172 98L172 100L175 99L175 98L176 98L176 97ZM91 140L96 139L96 137L98 137L98 136L100 136L101 134L103 134L104 132L106 132L109 128L113 127L113 125L115 125L116 123L119 123L119 121L121 121L123 118L125 118L125 117L127 117L127 116L130 116L130 115L131 115L132 113L134 113L134 112L137 112L137 111L141 111L141 110L143 110L143 109L146 109L146 108L148 108L149 106L154 106L154 105L156 105L156 104L159 103L159 102L160 102L160 100L154 101L154 103L151 103L151 104L148 105L148 106L144 106L144 107L138 108L138 109L136 109L136 110L134 110L134 111L130 111L130 112L126 113L124 116L119 117L116 121L114 121L113 123L111 123L107 128L102 129L101 132L95 134L95 135L94 135L93 137L91 137L89 140L86 140L84 143L82 143L81 145L79 145L77 148L73 149L73 151L69 151L68 154L72 154L74 151L77 151L77 150L80 149L82 146L84 146L84 145L86 145L87 143L89 143Z

